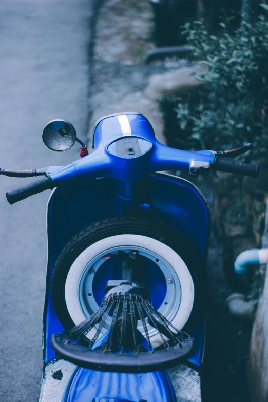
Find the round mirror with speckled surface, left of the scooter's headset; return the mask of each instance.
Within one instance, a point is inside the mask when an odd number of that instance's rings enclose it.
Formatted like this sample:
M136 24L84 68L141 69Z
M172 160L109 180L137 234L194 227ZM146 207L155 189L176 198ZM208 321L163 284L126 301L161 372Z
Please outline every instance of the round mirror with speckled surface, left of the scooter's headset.
M43 130L44 144L52 151L67 151L76 140L76 130L66 120L52 120Z

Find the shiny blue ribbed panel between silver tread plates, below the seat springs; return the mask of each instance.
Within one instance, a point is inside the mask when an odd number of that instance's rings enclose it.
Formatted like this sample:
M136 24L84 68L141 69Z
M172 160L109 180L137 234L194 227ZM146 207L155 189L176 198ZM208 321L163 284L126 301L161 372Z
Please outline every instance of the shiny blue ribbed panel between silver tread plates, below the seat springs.
M131 402L176 402L166 373L103 373L79 368L69 382L63 402L91 402L93 398L122 398Z

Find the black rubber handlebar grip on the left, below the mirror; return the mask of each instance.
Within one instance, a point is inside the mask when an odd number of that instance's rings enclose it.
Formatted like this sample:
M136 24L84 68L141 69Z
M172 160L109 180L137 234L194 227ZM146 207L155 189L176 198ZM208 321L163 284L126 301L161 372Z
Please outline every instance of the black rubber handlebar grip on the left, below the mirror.
M12 205L15 202L24 200L27 197L33 196L34 194L41 193L42 191L53 189L53 181L50 177L45 176L40 180L36 180L33 183L27 184L26 186L16 188L15 190L6 194L8 202Z

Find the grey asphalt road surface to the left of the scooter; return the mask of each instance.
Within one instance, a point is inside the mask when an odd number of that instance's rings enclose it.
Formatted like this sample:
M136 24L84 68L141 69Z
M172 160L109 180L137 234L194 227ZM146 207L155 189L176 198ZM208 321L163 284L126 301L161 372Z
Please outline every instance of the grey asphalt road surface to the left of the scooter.
M63 165L79 146L52 152L49 120L85 139L94 0L0 2L0 167ZM9 205L5 193L33 179L0 176L0 401L35 402L42 373L46 204L50 192Z

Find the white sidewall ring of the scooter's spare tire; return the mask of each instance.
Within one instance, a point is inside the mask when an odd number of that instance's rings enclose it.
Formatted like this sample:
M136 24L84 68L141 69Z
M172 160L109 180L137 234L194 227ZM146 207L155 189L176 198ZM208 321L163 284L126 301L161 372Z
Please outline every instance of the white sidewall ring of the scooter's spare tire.
M142 247L161 256L173 268L174 279L178 278L181 287L181 299L178 310L171 319L171 323L178 329L182 329L187 322L194 304L194 282L192 276L182 258L168 245L148 236L136 234L121 234L99 240L88 246L70 266L65 283L65 302L68 313L75 325L85 320L86 316L81 307L79 298L79 284L89 262L101 253L112 247L129 246ZM95 333L92 329L88 334L91 338ZM156 330L151 331L150 341L157 347L162 343Z

